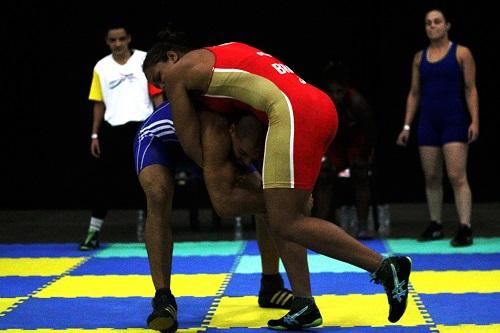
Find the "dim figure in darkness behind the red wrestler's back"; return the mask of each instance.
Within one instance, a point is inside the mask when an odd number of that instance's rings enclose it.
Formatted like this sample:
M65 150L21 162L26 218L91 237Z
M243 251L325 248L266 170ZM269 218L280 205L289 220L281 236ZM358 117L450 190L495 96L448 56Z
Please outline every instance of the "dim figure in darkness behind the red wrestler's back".
M365 98L352 87L349 69L339 61L331 61L323 70L323 90L337 109L339 128L324 158L320 179L316 184L317 214L328 217L333 211L332 192L338 191L338 173L349 169L354 187L357 230L359 239L374 236L368 226L371 203L370 164L376 144L376 125Z

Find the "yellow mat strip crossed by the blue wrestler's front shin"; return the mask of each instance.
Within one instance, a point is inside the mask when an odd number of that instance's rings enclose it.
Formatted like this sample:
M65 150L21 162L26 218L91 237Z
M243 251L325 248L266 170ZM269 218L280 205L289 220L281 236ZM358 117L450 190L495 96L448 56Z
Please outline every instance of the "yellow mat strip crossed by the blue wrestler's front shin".
M172 275L176 297L215 296L227 274ZM151 297L153 282L148 275L64 276L33 297Z

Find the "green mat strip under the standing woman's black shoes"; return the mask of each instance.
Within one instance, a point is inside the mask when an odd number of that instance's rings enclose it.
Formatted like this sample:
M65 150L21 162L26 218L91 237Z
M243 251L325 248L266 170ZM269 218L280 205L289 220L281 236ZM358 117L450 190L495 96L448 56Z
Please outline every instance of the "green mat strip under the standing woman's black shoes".
M498 253L500 238L474 238L474 244L466 247L453 247L450 239L430 242L417 242L415 239L388 239L386 247L392 253L416 254L453 254L453 253Z

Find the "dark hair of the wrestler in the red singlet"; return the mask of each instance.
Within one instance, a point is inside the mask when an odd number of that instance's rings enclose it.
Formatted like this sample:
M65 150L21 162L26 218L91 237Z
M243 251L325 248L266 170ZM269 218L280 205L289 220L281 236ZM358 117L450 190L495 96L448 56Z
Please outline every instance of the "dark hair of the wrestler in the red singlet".
M192 49L186 33L175 31L171 25L161 30L156 35L156 43L149 49L144 63L143 70L146 70L159 62L167 60L167 51L186 53Z

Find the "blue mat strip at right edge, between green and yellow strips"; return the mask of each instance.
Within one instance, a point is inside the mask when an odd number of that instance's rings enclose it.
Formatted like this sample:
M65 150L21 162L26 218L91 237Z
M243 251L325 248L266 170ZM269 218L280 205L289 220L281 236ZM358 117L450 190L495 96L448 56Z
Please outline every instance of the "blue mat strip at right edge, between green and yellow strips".
M410 257L414 271L487 271L500 266L500 254L412 254Z

